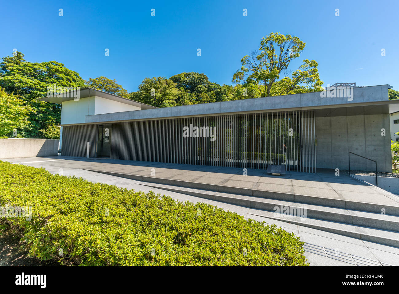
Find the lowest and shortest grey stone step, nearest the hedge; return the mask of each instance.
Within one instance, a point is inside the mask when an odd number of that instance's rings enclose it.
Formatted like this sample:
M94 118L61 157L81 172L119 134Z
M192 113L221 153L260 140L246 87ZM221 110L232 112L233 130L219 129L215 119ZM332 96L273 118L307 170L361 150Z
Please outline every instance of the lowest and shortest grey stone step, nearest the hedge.
M258 210L257 212L253 211L249 214L399 248L399 232L393 232L391 230L381 230L369 228L367 226L344 224L342 222L325 221L309 217L304 219L301 217L282 216L263 210Z

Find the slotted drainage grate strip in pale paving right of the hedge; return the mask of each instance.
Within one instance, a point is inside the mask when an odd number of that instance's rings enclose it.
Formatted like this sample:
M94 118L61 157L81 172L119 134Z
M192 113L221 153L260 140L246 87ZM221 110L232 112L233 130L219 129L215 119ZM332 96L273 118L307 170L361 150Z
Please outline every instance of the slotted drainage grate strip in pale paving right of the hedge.
M379 262L378 260L372 260L345 252L339 252L337 250L318 246L315 244L305 243L303 245L303 248L306 252L318 254L324 257L332 258L357 266L393 266L392 264Z

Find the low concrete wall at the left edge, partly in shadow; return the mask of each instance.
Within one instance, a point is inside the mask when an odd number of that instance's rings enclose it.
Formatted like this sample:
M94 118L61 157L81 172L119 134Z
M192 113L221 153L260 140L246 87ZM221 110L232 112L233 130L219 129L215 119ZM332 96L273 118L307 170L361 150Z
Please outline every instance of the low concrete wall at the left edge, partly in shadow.
M53 139L0 139L0 159L58 155L58 141Z

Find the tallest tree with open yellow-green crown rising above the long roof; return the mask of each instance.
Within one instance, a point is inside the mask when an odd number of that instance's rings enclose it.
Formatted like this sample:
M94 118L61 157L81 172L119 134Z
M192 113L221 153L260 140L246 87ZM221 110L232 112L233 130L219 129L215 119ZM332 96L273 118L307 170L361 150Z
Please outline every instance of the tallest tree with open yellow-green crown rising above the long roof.
M303 60L288 77L290 62L299 58L304 48L305 43L298 37L271 33L262 38L259 51L241 59L241 69L233 75L232 81L244 88L257 86L262 97L321 91L323 82L314 60Z

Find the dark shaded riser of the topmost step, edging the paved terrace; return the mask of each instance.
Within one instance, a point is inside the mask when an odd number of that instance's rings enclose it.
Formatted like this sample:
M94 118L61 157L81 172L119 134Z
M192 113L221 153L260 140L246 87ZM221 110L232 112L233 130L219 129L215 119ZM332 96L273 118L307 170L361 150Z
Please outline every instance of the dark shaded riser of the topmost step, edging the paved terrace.
M176 192L179 192L179 191L181 192L182 187L183 187L183 188L201 189L204 191L213 191L213 192L219 192L219 193L231 193L233 195L244 195L244 196L257 197L257 198L276 199L279 201L289 201L289 202L295 202L295 203L301 203L301 204L311 204L311 205L317 205L317 206L335 207L335 208L346 209L346 210L351 210L351 211L352 210L353 211L364 211L364 212L375 213L376 215L381 214L381 210L385 209L386 215L399 216L399 206L389 206L389 205L381 205L381 204L358 202L358 201L348 201L348 200L343 200L343 199L334 199L334 198L327 198L327 197L298 195L298 194L294 194L294 193L282 193L282 192L265 191L265 190L258 190L258 189L247 189L247 188L231 187L231 186L224 186L224 185L196 183L196 182L190 182L190 181L164 179L164 178L157 178L157 177L147 177L147 176L142 176L142 175L131 175L131 174L126 174L126 173L114 173L114 172L101 171L101 170L95 170L95 169L85 169L85 170L93 171L96 173L103 173L106 175L113 175L116 177L123 177L126 179L132 179L132 180L136 180L136 181L142 181L142 182L146 182L146 183L156 183L156 184L180 187L179 189L176 190ZM201 196L199 196L199 197L201 197Z

